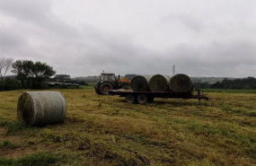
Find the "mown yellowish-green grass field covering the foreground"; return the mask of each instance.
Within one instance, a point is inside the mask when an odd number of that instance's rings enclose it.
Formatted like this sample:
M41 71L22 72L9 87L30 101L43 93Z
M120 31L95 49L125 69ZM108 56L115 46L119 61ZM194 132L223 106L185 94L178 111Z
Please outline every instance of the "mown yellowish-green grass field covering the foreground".
M132 105L93 89L57 90L63 124L21 127L22 91L0 92L0 165L255 165L256 94Z

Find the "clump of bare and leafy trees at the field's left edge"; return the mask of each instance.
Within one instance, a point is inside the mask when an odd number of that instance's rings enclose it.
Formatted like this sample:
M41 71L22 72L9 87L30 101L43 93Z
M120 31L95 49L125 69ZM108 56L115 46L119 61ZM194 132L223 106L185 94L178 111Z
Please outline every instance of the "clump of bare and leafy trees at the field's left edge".
M16 79L5 76L9 70L16 74ZM40 61L17 60L13 63L13 58L0 58L0 87L2 91L20 88L40 89L44 86L45 81L54 74L56 71L52 66Z

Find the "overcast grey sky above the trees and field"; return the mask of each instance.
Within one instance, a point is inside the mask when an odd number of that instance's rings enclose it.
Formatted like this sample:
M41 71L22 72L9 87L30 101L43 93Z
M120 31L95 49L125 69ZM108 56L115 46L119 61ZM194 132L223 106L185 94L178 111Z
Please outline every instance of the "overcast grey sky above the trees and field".
M72 77L256 77L256 1L0 0L0 57Z

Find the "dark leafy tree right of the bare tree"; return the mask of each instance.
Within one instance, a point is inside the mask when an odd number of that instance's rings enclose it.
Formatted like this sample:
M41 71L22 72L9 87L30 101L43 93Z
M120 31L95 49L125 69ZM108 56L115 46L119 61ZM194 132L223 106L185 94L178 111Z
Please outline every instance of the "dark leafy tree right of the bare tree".
M40 88L42 83L56 72L46 63L31 60L17 60L13 63L14 74L21 80L23 88Z

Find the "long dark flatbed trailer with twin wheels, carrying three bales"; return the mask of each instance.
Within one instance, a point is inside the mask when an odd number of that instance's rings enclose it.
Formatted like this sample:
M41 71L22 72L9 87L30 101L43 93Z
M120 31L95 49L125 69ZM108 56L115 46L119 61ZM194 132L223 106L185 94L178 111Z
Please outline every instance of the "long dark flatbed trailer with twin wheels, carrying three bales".
M201 94L200 91L196 92L133 92L130 90L110 90L110 95L119 95L119 97L125 97L128 103L146 104L147 102L153 102L154 98L164 99L198 99L208 100L205 94Z

